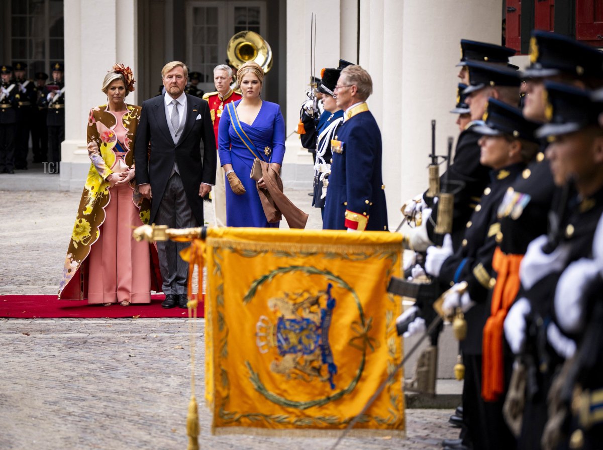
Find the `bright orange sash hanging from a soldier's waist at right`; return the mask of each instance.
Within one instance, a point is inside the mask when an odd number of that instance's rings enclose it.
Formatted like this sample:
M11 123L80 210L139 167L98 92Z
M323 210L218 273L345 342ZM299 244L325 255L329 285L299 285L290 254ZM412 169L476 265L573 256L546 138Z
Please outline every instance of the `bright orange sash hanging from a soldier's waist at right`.
M497 277L482 343L482 397L485 401L496 401L504 393L503 324L519 292L522 258L523 255L504 254L500 247L496 248L492 258Z

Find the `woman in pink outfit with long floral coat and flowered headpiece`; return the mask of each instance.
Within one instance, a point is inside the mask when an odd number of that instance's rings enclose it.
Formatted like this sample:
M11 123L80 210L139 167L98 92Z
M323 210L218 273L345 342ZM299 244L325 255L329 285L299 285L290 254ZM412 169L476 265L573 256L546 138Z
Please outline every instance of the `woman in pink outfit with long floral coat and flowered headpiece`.
M125 103L134 90L130 67L115 64L103 81L107 104L90 110L92 163L69 243L58 298L90 304L150 303L161 277L154 245L132 229L148 222L150 202L134 180L134 136L140 107Z

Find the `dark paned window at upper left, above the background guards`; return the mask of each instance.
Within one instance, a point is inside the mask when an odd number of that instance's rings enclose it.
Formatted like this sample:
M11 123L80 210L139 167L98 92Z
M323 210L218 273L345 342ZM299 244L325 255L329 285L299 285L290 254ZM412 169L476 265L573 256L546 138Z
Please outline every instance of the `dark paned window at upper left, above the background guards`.
M63 0L11 0L10 17L11 60L27 63L29 78L65 60Z

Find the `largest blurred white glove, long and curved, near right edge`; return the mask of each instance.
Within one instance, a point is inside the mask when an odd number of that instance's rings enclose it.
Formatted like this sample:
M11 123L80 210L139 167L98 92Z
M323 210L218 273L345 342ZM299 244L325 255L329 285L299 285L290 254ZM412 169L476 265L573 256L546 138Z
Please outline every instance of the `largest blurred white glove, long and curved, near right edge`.
M582 327L583 295L598 275L599 268L595 261L586 258L574 261L561 273L555 290L555 314L566 333L576 333Z

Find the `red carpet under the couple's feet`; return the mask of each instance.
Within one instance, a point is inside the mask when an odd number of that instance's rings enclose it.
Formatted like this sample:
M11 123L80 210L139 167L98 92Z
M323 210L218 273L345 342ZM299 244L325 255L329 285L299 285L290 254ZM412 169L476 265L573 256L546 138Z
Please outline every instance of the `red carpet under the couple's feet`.
M103 306L89 305L86 300L57 300L55 295L0 295L0 317L19 319L188 317L186 309L178 307L163 309L161 302L164 298L163 294L153 294L151 303L146 305ZM199 306L197 316L203 317L203 307L201 304Z

